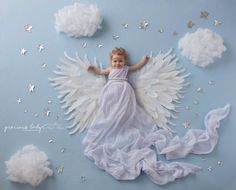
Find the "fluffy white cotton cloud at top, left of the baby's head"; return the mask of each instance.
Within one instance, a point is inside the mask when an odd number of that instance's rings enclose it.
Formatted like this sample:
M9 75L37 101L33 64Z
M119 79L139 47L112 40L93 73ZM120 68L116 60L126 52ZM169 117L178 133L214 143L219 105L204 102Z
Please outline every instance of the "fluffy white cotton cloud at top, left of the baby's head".
M71 37L93 36L101 28L102 17L96 5L74 3L55 13L55 28Z

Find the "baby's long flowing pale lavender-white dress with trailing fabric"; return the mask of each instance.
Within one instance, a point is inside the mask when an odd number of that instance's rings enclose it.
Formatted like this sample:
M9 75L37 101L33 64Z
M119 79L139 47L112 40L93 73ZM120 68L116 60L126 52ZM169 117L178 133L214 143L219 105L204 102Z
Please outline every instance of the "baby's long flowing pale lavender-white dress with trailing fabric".
M209 112L205 130L190 129L183 138L159 128L136 103L132 86L127 81L128 66L113 69L98 101L98 111L83 139L84 154L118 180L132 180L141 171L159 185L200 170L188 163L158 161L154 145L167 159L189 153L210 153L218 139L216 128L230 106Z

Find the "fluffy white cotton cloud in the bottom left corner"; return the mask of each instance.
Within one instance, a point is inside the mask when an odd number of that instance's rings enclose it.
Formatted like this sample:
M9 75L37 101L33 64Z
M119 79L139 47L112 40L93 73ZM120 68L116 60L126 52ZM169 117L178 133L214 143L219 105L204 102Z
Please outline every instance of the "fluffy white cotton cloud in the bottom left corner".
M33 187L52 176L47 155L34 145L26 145L5 162L10 181L29 183Z

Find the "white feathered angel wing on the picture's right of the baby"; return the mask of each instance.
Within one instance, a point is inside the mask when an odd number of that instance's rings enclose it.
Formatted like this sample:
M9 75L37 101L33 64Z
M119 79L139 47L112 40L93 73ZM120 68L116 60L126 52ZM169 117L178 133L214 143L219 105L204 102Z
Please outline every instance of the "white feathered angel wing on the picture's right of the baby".
M137 101L152 116L159 127L172 129L171 118L176 118L176 103L182 98L186 85L185 69L178 68L172 49L167 53L150 56L148 63L130 76Z

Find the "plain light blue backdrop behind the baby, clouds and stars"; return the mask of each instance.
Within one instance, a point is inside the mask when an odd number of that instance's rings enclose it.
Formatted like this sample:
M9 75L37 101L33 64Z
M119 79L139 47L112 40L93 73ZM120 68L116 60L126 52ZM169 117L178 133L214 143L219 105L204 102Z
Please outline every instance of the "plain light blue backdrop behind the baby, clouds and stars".
M81 0L81 3L97 4L104 18L103 29L92 38L69 38L58 34L54 29L54 13L65 5L72 4L74 0L1 0L0 6L0 189L20 190L32 189L29 185L11 183L6 180L4 161L26 144L34 144L47 153L52 162L54 176L45 180L35 189L87 189L87 190L141 190L141 189L170 189L170 190L206 190L206 189L235 189L236 188L236 153L233 151L236 144L235 138L235 71L236 71L236 1L234 0ZM200 12L207 10L210 15L207 20L200 18ZM214 26L214 19L220 19L222 24ZM139 22L146 20L150 26L146 31L138 28ZM195 25L192 29L186 23L192 20ZM125 30L122 23L128 23ZM32 33L24 30L26 24L33 25ZM216 31L225 40L227 51L214 65L201 69L192 65L180 55L177 49L178 40L186 33L195 31L198 27L210 28ZM164 33L157 30L163 28ZM176 31L177 36L172 32ZM115 41L112 35L119 35ZM87 47L83 48L83 42ZM37 45L44 44L45 49L39 53ZM102 43L103 47L96 45ZM133 181L117 181L109 174L98 169L92 161L83 155L81 140L84 134L69 136L66 129L45 129L41 133L24 132L22 130L9 130L4 132L6 126L29 126L30 124L45 125L56 122L58 127L64 128L68 123L63 115L57 92L50 86L48 77L52 77L55 65L63 52L67 51L72 57L76 51L81 56L85 53L90 58L97 57L99 61L108 66L108 53L114 46L126 48L130 54L131 62L138 61L143 55L167 51L175 48L174 53L179 62L191 72L178 114L177 124L179 135L186 129L182 127L184 120L191 122L192 128L203 128L204 115L211 109L231 103L230 116L222 122L219 129L220 140L216 149L203 161L200 156L190 155L184 161L198 164L203 171L196 175L177 180L165 186L158 186L151 182L146 175L139 176ZM25 56L20 54L21 48L28 50ZM47 64L43 69L41 65ZM214 80L215 85L209 86L208 81ZM35 93L30 94L28 84L36 86ZM198 87L204 93L196 92ZM22 103L17 103L17 98ZM52 104L48 104L48 100ZM199 105L194 105L194 100ZM184 107L189 105L190 110ZM48 107L52 112L50 117L43 114L43 109ZM27 109L28 112L24 113ZM195 113L200 117L196 118ZM38 117L34 114L38 113ZM59 119L56 120L56 116ZM48 140L53 139L54 143ZM66 148L65 153L60 149ZM164 159L160 157L160 159ZM217 161L222 160L223 166L217 166ZM56 173L56 166L62 164L64 172ZM212 172L207 171L213 166ZM87 181L81 182L80 177L86 176Z

